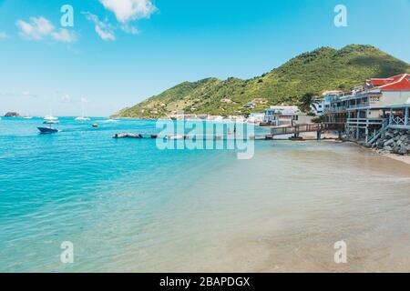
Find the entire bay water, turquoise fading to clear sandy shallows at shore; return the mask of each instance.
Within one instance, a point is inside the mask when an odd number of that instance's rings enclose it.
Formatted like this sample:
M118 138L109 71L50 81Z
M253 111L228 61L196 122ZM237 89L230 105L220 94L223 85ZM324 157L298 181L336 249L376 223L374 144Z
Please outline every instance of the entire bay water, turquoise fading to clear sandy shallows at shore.
M0 271L410 271L403 163L328 142L257 141L238 160L111 138L151 121L40 124L0 121Z

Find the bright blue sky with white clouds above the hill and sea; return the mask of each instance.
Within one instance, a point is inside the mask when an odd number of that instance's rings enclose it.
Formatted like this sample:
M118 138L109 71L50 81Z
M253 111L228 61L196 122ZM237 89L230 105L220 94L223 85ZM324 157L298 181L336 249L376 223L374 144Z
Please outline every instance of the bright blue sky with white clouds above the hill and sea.
M335 5L346 27L333 25ZM74 26L60 25L62 5ZM110 115L183 81L375 45L410 62L410 0L0 0L0 115Z

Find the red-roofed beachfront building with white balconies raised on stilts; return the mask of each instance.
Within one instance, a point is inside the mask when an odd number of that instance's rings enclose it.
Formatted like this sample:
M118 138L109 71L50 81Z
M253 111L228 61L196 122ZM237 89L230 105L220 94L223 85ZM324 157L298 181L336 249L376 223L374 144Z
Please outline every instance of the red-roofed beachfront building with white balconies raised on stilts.
M410 130L410 75L366 80L324 108L325 121L343 124L347 137L372 144L386 128Z

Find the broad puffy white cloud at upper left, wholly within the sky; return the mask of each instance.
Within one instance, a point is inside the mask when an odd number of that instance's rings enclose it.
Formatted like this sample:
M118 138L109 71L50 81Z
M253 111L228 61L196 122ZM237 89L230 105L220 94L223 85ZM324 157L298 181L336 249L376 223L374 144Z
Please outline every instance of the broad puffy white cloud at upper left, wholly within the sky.
M20 28L20 35L31 40L43 40L48 37L64 43L73 43L77 37L74 32L67 29L56 30L56 27L45 17L30 17L26 22L18 20L16 25Z

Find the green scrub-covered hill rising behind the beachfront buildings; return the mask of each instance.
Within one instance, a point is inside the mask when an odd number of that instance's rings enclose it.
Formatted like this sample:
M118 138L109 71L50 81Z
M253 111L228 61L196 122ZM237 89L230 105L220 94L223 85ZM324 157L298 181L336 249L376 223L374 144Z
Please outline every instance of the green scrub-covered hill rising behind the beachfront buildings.
M371 45L347 45L340 50L321 47L252 79L207 78L181 83L114 116L158 118L173 111L212 115L260 112L268 105L298 105L306 93L349 90L371 77L406 72L410 72L409 64ZM265 103L254 109L244 107L255 98Z

